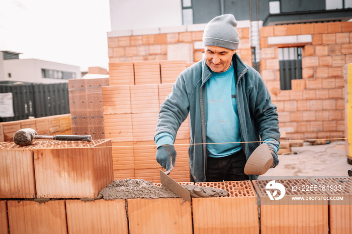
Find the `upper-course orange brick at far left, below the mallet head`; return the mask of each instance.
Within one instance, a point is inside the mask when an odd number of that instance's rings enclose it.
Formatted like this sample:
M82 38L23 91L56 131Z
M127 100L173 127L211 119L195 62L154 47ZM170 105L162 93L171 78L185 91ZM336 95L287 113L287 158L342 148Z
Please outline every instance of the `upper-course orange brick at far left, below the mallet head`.
M0 145L0 198L34 198L33 151L15 143Z

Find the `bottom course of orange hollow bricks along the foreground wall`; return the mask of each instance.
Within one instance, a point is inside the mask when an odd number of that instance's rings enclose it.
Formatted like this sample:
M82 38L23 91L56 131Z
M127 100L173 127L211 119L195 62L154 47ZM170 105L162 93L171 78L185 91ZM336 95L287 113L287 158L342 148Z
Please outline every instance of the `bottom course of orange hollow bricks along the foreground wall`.
M268 182L196 183L225 189L229 195L190 202L182 198L38 202L2 197L0 233L9 233L9 228L11 233L350 233L352 179L277 180L286 188L281 200L269 199ZM342 190L291 189L302 185L341 186ZM342 196L344 200L298 201L294 196Z

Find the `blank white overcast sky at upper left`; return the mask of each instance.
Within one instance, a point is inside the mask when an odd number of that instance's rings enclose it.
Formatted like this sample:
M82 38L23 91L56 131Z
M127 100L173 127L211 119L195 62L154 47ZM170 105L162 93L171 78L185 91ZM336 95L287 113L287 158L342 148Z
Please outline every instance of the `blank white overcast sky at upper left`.
M0 50L108 68L109 0L0 0Z

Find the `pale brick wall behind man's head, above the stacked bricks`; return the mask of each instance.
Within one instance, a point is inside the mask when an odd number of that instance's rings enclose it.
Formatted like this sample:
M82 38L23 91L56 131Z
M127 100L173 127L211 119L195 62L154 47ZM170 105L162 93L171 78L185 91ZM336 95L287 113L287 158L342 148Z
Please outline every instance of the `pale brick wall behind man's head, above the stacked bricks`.
M197 25L195 25L197 26ZM201 25L203 26L203 25ZM205 25L204 25L205 26ZM145 34L145 35L128 35L109 37L108 35L108 54L109 62L130 62L143 60L176 60L186 59L187 62L198 62L202 59L203 48L203 30L189 29L186 27L177 28L176 30L160 29L159 34ZM241 57L242 61L248 65L252 65L251 49L249 40L249 26L237 28L240 44L236 51ZM191 31L196 30L196 31ZM144 32L144 31L143 31ZM170 58L172 45L180 45L181 48L190 46L193 48L193 61L187 58ZM189 47L186 48L188 50ZM168 54L169 53L169 54ZM176 52L177 53L177 52Z

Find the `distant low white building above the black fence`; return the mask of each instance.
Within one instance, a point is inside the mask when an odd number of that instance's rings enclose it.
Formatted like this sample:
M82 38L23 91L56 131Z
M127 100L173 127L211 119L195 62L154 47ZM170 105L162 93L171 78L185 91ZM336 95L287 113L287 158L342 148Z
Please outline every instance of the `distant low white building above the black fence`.
M4 60L4 80L30 83L64 83L68 80L42 78L43 69L75 72L76 78L81 77L80 68L68 64L49 62L38 59L9 59ZM8 77L11 73L11 78Z

